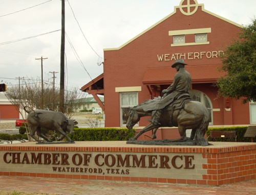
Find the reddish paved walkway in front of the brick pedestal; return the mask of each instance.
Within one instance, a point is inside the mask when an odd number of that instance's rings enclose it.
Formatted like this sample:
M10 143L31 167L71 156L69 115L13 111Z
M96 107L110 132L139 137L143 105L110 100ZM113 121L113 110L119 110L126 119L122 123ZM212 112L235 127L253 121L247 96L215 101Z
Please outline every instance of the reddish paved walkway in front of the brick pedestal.
M34 177L0 176L1 191L18 191L45 194L256 194L256 180L222 186L202 186L166 183L137 183L99 180L52 179Z

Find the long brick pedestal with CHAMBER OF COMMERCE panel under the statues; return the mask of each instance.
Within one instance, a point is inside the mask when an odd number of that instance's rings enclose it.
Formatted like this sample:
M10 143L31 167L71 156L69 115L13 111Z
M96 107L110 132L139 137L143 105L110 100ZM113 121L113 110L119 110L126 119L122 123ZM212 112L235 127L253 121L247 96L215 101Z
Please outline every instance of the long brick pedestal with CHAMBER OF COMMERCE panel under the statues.
M255 179L256 144L152 146L125 141L0 146L0 175L223 185Z

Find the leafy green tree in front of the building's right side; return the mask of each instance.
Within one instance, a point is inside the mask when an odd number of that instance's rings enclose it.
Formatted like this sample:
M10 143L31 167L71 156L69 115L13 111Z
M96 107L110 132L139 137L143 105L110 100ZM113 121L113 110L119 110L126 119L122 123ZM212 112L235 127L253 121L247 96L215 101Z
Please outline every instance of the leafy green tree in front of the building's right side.
M222 71L226 76L217 82L224 97L256 102L256 20L244 28L224 52Z

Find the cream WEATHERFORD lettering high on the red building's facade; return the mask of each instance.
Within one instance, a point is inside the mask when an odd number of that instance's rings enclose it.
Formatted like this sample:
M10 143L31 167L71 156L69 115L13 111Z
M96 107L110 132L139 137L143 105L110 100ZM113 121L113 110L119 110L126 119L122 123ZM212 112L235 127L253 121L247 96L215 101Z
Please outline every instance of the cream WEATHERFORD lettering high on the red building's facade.
M184 60L194 60L203 58L221 58L223 51L211 52L190 52L190 53L176 53L176 54L161 54L157 55L158 61L172 61L183 58Z

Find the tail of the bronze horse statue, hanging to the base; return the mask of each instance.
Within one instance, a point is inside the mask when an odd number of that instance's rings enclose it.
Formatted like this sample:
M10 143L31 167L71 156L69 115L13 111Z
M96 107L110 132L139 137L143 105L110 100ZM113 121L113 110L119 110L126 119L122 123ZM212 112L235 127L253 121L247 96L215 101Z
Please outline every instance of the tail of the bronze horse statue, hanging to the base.
M196 130L196 133L195 133L195 140L197 144L202 146L209 145L207 139L204 138L204 135L208 129L208 125L209 125L209 114L208 112L206 112L204 114L201 125L199 126L199 128Z

